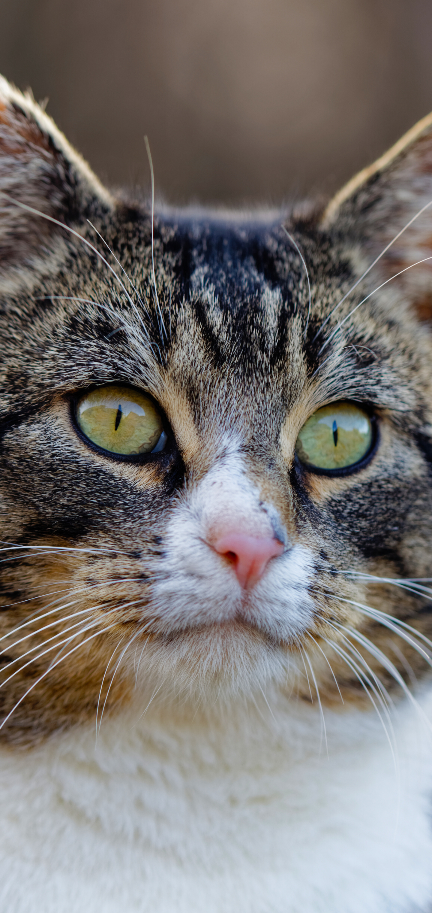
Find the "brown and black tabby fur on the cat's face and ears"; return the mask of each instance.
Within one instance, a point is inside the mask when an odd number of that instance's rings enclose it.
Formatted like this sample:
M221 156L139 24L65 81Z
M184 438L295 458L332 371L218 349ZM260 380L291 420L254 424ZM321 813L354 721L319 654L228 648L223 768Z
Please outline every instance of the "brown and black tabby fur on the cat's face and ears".
M409 270L351 311L386 278L428 256L432 208L329 315L432 199L430 119L338 194L324 216L319 207L283 213L276 221L257 214L246 223L242 214L225 221L208 213L159 214L154 257L164 332L151 274L149 209L114 202L33 100L5 82L0 99L0 522L4 548L10 549L0 552L2 680L17 670L0 688L4 718L17 705L2 738L36 740L95 719L100 689L99 705L108 696L105 712L122 706L135 687L137 644L139 651L146 645L149 692L155 670L163 666L162 697L180 695L195 704L207 693L219 693L228 679L237 677L242 687L246 667L251 678L244 680L252 680L260 656L278 656L282 663L287 651L295 660L303 648L314 659L323 703L340 706L335 677L345 706L367 706L358 677L327 644L329 638L344 644L338 624L370 637L405 681L411 673L426 675L424 652L349 600L393 615L413 632L432 633L427 595L386 582L430 574L430 266ZM309 317L303 265L282 223L309 270ZM232 246L231 266L223 259L223 244L214 242L219 253L212 260L208 254L212 239L220 237ZM259 292L248 287L250 266L244 289L230 285L240 276L235 257L246 247L247 263L253 261L262 277ZM208 281L192 287L199 267ZM163 458L110 460L77 435L71 398L90 385L114 381L159 402L175 442ZM341 477L304 472L294 460L296 437L317 408L337 400L366 404L374 413L375 456ZM302 643L278 641L259 623L238 619L205 629L166 624L152 603L166 557L168 520L223 458L223 436L232 430L242 441L247 474L262 501L277 509L293 543L314 552L314 621ZM46 632L36 616L59 591L64 592L59 605L74 604L46 617L43 624L53 623ZM208 598L211 603L212 593ZM87 610L82 617L95 627L77 635L65 648L74 652L50 670L67 625L75 621L68 622L67 614ZM13 635L21 624L28 626ZM87 635L108 624L113 626L84 644ZM32 636L15 644L25 634ZM58 647L42 655L46 636L53 635ZM110 657L134 635L109 687L104 674ZM371 674L389 691L397 690L386 666L353 643ZM33 645L34 654L24 656ZM334 677L317 645L331 659ZM299 675L295 687L304 700L311 699ZM22 699L27 688L32 690Z

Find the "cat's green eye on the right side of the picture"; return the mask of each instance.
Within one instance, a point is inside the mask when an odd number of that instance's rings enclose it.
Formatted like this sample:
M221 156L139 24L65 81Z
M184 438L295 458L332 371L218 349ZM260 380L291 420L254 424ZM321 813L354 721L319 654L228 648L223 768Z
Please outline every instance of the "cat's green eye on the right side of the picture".
M297 437L295 452L301 463L316 469L354 466L372 445L372 422L358 405L324 405L308 419Z

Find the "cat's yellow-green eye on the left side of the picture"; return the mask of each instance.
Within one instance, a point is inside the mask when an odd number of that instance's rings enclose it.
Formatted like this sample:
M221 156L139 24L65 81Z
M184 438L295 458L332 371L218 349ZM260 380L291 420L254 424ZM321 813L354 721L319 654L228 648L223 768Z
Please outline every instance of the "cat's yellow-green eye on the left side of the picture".
M167 441L155 404L129 387L107 385L85 394L77 403L77 424L93 444L122 456L159 453Z

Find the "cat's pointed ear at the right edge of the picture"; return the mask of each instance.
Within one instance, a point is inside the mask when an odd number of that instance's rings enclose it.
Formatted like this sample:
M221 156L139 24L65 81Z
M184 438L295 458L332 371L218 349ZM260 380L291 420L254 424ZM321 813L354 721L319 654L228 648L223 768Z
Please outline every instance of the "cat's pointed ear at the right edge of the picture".
M359 245L364 266L396 238L374 275L385 280L410 267L396 283L417 318L432 320L432 258L412 266L432 257L432 114L334 196L322 226Z

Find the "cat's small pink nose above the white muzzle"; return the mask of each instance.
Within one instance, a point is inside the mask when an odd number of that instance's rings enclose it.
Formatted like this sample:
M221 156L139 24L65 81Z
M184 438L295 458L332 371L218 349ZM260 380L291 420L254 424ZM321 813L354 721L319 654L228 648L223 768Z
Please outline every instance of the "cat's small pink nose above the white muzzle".
M271 558L283 553L277 539L253 539L230 532L215 542L213 548L232 562L237 580L245 590L252 589L261 578Z

